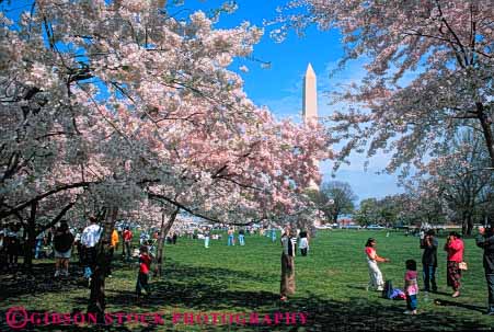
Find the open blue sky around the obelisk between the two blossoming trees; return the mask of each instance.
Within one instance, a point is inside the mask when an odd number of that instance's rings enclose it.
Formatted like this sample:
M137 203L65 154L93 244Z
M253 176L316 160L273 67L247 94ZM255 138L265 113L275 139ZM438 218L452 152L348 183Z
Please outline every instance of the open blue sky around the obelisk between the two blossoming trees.
M276 7L284 1L238 0L239 9L233 14L222 15L218 27L232 27L243 21L262 26L265 19L276 15ZM222 1L185 1L186 8L202 9L221 5ZM365 71L364 61L355 60L337 72L331 79L329 73L336 68L338 59L343 55L341 35L337 31L320 32L315 27L307 31L303 37L291 33L284 43L275 43L269 37L269 27L260 44L254 47L253 57L271 62L268 69L262 68L260 62L246 60L235 62L233 70L240 65L249 68L248 73L241 73L245 81L248 95L257 104L266 105L279 117L291 117L300 122L302 110L302 78L309 62L312 64L318 76L318 105L319 114L331 114L329 96L326 92L338 84L351 81L359 81ZM334 180L348 182L359 201L368 197L383 197L386 195L402 192L397 185L395 175L378 175L389 161L386 154L377 154L370 159L367 172L364 171L365 156L354 154L349 165L342 165ZM321 164L324 180L331 178L332 162Z

